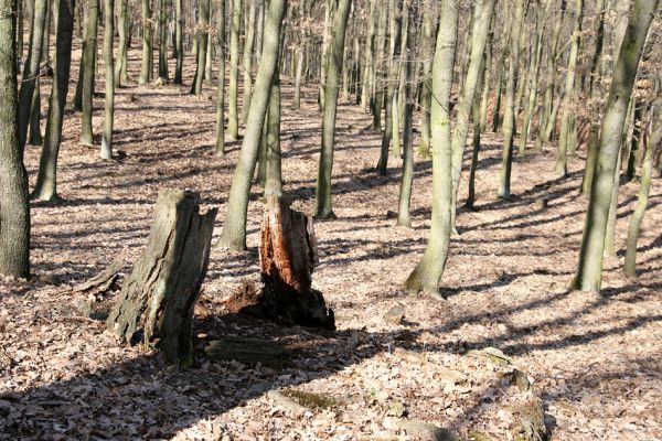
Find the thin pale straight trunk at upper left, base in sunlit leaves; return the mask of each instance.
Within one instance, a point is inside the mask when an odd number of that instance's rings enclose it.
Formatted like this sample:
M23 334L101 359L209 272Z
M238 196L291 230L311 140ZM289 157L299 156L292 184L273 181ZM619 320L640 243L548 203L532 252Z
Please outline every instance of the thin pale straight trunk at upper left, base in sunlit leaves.
M162 2L166 0L161 0ZM115 68L113 40L115 37L115 0L104 0L104 63L106 64L106 96L104 97L104 136L102 159L113 158L113 123L115 122Z

